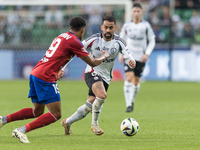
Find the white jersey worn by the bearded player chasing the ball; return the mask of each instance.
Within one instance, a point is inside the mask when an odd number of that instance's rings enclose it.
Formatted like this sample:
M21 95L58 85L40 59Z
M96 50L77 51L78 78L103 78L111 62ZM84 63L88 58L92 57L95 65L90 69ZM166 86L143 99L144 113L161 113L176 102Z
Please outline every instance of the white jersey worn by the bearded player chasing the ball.
M96 67L87 65L85 69L85 73L94 72L101 76L107 84L109 84L112 79L114 62L119 52L123 54L126 61L133 59L125 41L116 34L114 34L114 37L111 41L105 41L102 37L102 34L97 33L87 38L82 43L85 46L85 49L90 48L93 58L100 57L101 50L106 50L109 53L110 57L105 59L101 64Z

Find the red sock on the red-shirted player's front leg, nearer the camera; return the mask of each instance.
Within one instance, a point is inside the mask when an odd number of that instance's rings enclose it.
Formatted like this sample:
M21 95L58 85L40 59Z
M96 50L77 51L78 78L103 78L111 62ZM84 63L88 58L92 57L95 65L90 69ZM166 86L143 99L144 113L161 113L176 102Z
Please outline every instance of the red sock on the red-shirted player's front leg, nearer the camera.
M48 112L46 114L39 116L36 120L25 125L26 132L29 132L31 130L34 130L34 129L37 129L40 127L44 127L44 126L49 125L57 120L58 119L56 118L56 116L54 114L52 114L51 112Z

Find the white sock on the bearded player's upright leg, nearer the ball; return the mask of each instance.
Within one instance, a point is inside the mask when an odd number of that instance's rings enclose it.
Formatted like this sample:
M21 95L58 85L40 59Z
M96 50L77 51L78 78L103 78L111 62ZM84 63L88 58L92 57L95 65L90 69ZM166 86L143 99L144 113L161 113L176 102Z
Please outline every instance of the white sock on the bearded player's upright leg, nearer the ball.
M98 125L98 119L103 108L104 99L96 97L92 105L92 125Z

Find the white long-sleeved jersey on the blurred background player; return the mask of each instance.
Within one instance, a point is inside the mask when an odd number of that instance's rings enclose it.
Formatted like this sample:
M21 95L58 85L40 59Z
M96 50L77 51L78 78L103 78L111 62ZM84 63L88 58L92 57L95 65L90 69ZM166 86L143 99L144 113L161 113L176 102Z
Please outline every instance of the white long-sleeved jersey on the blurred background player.
M132 21L125 23L120 37L126 41L128 49L137 61L140 61L144 54L150 55L155 47L155 34L151 25L145 20L138 24Z

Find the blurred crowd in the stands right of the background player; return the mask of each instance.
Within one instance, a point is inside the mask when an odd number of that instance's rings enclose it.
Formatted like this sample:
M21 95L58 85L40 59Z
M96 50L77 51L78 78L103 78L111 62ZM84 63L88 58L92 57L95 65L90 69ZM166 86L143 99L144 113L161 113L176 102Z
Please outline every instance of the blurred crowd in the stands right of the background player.
M147 20L156 33L157 43L191 45L200 42L200 0L149 0ZM170 9L170 5L174 6ZM169 38L170 37L170 38Z

